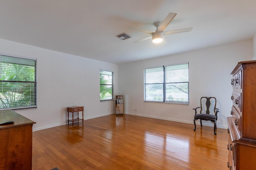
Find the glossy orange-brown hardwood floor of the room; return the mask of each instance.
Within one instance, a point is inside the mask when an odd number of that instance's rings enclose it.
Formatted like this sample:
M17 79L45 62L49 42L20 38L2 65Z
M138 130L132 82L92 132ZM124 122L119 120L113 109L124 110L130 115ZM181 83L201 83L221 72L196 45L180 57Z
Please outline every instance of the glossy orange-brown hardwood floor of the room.
M218 128L218 127L217 127ZM32 169L226 170L227 129L108 115L33 132Z

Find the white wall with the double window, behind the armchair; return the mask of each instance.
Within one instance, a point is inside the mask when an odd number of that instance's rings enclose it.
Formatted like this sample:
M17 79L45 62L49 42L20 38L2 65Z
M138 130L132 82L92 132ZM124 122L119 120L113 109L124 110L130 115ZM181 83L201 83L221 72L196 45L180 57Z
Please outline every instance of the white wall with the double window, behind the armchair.
M193 123L194 110L202 96L217 98L217 127L226 128L232 102L231 71L239 61L252 59L252 40L220 45L187 53L159 57L118 66L118 90L124 94L124 111L145 117ZM189 62L189 105L144 102L143 69ZM134 108L137 111L134 111ZM210 121L204 124L212 126Z

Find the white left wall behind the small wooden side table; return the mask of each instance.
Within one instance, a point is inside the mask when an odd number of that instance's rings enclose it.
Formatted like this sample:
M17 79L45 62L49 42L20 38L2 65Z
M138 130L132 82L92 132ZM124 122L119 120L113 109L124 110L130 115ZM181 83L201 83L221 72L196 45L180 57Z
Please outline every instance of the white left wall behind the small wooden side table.
M84 106L84 119L114 113L113 100L100 102L99 77L100 69L114 71L114 92L117 93L118 65L4 39L0 39L0 51L38 59L38 107L16 110L36 122L33 131L66 124L68 106Z

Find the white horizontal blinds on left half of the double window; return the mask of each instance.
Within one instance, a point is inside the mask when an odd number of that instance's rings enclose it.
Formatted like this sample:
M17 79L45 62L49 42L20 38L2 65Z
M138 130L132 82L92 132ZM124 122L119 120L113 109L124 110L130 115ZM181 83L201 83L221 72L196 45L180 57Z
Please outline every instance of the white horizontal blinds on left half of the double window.
M163 102L163 67L144 69L144 101Z

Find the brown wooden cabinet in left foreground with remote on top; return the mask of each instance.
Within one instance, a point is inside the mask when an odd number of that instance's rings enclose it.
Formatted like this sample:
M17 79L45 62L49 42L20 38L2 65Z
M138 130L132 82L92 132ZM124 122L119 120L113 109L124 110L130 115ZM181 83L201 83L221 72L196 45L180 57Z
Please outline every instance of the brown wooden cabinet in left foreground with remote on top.
M0 111L0 122L14 121L11 125L0 125L0 169L32 169L32 126L34 121L12 111Z

